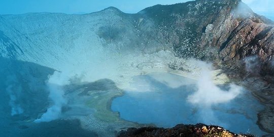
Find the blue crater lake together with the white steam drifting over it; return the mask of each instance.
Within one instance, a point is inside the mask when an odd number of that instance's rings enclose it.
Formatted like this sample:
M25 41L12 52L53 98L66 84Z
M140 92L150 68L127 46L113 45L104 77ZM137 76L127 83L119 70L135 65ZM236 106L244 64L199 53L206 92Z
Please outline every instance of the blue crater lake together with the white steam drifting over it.
M140 79L143 79L148 82L146 87L152 90L126 91L124 96L114 99L112 110L119 112L122 119L160 127L204 123L223 126L236 133L264 134L256 124L257 113L264 107L240 86L215 85L210 71L211 64L201 64L205 71L197 81L162 73L135 77L132 82L134 87L140 85L142 90L144 85ZM169 77L169 82L155 79L164 76ZM177 87L168 84L178 79L187 84Z

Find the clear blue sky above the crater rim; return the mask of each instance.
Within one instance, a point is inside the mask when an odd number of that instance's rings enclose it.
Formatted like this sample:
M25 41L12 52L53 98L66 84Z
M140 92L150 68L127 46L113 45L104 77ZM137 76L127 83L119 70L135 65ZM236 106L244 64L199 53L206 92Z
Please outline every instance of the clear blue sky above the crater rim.
M110 6L125 13L137 13L147 7L169 5L189 0L0 0L0 14L23 14L31 12L54 12L85 14ZM222 0L220 0L222 1ZM242 0L260 15L274 20L274 0Z

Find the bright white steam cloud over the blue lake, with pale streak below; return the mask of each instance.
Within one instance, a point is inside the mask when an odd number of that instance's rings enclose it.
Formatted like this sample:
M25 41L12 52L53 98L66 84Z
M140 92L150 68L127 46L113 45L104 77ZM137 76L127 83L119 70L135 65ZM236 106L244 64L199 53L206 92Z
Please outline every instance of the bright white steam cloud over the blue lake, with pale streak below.
M228 91L222 90L214 84L212 65L200 62L200 78L197 81L198 90L187 97L187 101L195 105L200 110L200 118L206 124L220 124L220 121L214 116L212 106L231 101L241 93L242 88L230 84ZM224 125L224 123L222 123ZM226 125L227 126L227 125Z

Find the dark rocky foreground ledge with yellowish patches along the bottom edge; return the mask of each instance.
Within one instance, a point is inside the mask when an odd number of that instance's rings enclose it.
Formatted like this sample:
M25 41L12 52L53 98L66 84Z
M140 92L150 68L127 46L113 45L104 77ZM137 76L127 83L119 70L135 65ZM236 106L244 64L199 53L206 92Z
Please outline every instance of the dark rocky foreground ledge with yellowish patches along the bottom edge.
M122 130L118 136L253 136L250 134L235 134L225 130L219 126L208 126L204 124L184 125L179 124L173 128L158 128L158 127L142 127L142 128L128 128L126 131Z

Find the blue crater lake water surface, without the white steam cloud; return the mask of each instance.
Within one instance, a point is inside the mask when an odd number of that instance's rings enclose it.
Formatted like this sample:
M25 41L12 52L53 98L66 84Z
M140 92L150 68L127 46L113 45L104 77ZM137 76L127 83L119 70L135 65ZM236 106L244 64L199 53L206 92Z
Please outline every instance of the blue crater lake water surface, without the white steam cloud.
M223 126L235 133L264 134L256 124L257 113L263 106L247 90L225 104L203 108L187 101L188 95L196 90L194 84L171 88L149 75L137 79L145 79L157 88L148 92L126 91L124 96L115 98L111 109L119 112L122 119L160 127L204 123ZM181 81L190 79L181 77Z

